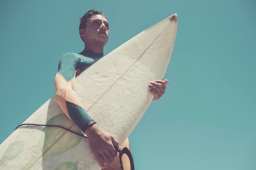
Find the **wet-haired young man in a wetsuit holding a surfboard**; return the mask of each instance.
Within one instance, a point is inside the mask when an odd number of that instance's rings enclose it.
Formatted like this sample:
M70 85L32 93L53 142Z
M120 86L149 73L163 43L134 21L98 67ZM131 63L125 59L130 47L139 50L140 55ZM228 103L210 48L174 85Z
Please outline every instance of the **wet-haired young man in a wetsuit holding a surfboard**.
M73 89L76 75L103 57L103 48L109 37L109 24L106 15L96 9L85 13L80 21L79 34L85 44L84 50L79 54L67 53L61 58L54 83L55 100L67 117L88 136L94 157L103 168L104 163L110 165L115 160L117 152L114 146L120 148L119 143L115 137L97 126L97 123L86 113ZM156 80L148 84L149 91L154 95L153 100L159 99L164 94L167 83L168 80ZM126 144L127 142L128 139ZM119 165L119 163L115 163L115 165L117 164ZM105 167L105 170L107 169L115 170L116 168L110 165Z

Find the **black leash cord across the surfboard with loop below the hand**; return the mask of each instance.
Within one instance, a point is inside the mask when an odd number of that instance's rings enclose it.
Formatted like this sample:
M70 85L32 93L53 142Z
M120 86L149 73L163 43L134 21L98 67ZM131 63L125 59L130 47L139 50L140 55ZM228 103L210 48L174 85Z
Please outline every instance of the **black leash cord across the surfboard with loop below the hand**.
M65 129L65 130L70 131L70 132L72 132L72 133L74 133L74 134L76 134L76 135L79 135L79 136L81 136L81 137L84 137L84 138L87 138L87 139L88 139L88 137L86 137L86 136L83 136L83 135L81 135L81 134L79 134L79 133L77 133L77 132L74 132L73 130L70 130L70 129L68 129L68 128L64 128L63 126L58 126L58 125L21 124L21 125L17 126L17 127L15 128L15 130L18 129L20 126L57 127L57 128ZM115 150L116 150L117 152L119 152L119 162L120 162L120 168L121 168L120 170L124 170L123 162L122 162L122 156L123 156L124 154L126 154L126 155L129 157L129 159L130 159L130 165L131 165L131 170L134 170L134 162L133 162L132 153L130 152L130 150L129 150L128 148L126 148L126 147L124 147L122 150L119 149L119 148L117 148L116 146L114 146L114 147L115 147Z

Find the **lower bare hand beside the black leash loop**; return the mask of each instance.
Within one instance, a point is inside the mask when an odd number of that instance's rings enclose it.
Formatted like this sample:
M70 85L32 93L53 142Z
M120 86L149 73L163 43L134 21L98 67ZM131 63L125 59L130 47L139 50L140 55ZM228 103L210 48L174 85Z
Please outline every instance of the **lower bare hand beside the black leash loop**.
M85 134L89 139L90 148L99 165L103 168L104 162L109 165L117 156L114 145L119 147L118 141L107 132L99 128L97 124L93 124L85 130Z

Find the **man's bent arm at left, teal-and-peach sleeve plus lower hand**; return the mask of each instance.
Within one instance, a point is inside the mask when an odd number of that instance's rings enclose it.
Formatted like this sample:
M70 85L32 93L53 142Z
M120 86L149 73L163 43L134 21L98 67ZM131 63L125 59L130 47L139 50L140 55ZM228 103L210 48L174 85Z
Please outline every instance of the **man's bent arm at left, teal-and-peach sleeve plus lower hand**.
M87 64L93 61L88 59ZM104 162L110 164L117 156L114 145L119 146L118 141L107 132L102 131L90 115L86 113L79 98L74 92L75 75L79 71L81 58L74 53L63 55L55 77L55 101L59 104L65 115L85 132L88 136L90 148L101 167ZM83 63L83 65L86 63ZM82 70L83 71L83 70Z

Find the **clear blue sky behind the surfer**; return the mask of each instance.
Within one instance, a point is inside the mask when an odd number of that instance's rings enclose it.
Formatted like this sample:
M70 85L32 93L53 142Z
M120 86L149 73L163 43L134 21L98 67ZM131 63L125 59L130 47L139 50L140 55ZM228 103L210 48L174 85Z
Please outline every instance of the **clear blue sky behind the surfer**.
M58 61L83 50L79 18L94 8L110 23L105 54L178 15L166 94L130 135L135 168L255 170L255 0L1 0L0 143L54 95Z

